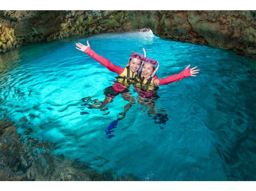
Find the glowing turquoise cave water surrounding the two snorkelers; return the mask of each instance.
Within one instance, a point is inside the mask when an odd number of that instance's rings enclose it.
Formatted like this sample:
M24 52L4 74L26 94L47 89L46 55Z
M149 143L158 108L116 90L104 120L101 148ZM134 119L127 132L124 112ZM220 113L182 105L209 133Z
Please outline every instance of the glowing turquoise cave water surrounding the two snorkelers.
M160 63L158 78L189 64L200 73L159 88L155 110L163 115L148 115L147 100L140 105L131 86L136 101L108 138L107 127L129 102L118 95L106 111L84 105L85 97L92 97L86 99L91 104L103 101L117 76L75 49L86 40L119 66L144 47ZM256 180L255 65L231 51L150 32L35 43L0 55L0 119L10 118L20 134L56 143L56 155L102 172L133 173L141 180Z

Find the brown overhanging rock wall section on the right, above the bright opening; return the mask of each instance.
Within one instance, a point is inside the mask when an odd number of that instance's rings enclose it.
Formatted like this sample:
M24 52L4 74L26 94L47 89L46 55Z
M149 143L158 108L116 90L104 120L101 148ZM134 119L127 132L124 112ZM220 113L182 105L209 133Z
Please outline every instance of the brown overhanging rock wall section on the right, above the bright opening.
M129 11L134 29L256 58L256 11Z

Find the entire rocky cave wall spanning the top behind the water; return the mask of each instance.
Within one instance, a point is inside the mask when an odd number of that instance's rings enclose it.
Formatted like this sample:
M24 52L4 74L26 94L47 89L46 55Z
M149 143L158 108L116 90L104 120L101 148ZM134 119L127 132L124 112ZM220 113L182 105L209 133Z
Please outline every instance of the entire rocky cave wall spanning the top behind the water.
M256 58L256 11L0 11L0 53L38 41L142 28Z

